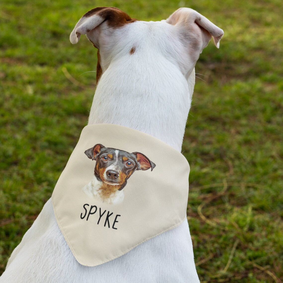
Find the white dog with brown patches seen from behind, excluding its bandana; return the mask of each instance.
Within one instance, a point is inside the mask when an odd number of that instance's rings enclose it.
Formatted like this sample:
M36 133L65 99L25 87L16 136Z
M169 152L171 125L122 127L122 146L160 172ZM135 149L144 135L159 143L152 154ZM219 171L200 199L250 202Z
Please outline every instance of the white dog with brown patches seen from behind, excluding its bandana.
M222 29L198 12L180 8L167 20L143 22L117 8L87 12L81 34L98 48L99 83L89 124L130 127L181 151L194 89L194 66L211 36ZM0 282L199 282L185 220L104 264L80 265L55 220L51 200L13 251Z

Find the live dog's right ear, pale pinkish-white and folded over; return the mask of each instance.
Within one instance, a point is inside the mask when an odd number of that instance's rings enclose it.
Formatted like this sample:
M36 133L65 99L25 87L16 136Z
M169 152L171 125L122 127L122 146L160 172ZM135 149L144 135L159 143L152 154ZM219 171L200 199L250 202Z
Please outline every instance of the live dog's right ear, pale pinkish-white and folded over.
M224 35L222 29L190 8L179 8L166 22L179 29L181 40L186 41L187 46L193 46L200 52L207 46L211 37L215 46L219 48L219 41Z

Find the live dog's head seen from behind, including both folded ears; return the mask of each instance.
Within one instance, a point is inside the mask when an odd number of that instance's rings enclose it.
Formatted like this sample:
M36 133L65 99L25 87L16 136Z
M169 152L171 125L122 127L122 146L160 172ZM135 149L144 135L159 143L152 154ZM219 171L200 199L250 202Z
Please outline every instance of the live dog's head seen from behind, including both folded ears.
M98 7L82 16L70 34L70 41L77 43L82 34L98 48L98 82L112 61L123 62L123 58L135 58L137 54L148 64L152 64L153 58L161 59L158 68L168 68L164 64L167 60L188 78L211 37L219 47L224 32L190 8L179 8L167 20L144 22L118 8ZM132 64L135 63L133 59Z

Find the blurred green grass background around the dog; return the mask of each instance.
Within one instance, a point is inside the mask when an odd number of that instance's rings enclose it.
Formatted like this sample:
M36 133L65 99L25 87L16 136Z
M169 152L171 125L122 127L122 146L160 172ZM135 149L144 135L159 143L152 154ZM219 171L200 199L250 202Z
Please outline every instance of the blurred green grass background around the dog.
M141 20L190 7L224 29L220 49L210 43L196 65L183 142L198 275L202 282L282 282L281 0L2 0L0 274L87 124L96 51L85 37L74 46L68 38L97 6Z

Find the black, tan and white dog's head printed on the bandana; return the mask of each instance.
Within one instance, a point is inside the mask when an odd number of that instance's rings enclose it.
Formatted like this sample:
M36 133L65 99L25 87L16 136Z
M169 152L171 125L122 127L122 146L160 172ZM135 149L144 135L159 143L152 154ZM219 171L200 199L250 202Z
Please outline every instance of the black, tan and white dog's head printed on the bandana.
M140 152L129 153L120 149L105 147L98 143L87 149L85 154L95 160L94 175L108 185L119 185L119 190L127 184L128 178L136 170L155 168L155 164Z

